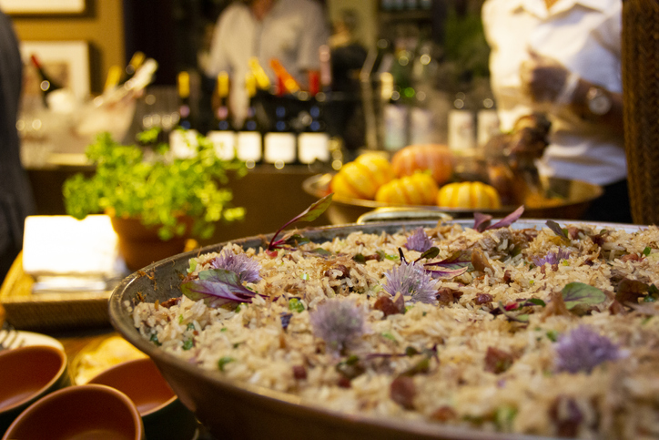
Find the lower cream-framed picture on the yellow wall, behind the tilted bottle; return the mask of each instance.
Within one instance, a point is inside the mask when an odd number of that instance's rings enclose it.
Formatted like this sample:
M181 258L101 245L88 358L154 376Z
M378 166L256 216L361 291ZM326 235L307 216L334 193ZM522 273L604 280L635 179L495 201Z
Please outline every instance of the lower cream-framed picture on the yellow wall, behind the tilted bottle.
M34 54L46 73L76 98L84 100L90 94L89 44L86 41L23 41L20 44L26 82L35 68L30 60Z

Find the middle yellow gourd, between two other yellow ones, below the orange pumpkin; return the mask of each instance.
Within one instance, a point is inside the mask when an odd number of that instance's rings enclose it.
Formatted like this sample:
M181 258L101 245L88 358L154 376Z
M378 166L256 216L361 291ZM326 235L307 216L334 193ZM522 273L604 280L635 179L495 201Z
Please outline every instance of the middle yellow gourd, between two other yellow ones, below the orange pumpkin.
M391 204L434 205L438 190L430 174L416 172L382 185L375 200Z

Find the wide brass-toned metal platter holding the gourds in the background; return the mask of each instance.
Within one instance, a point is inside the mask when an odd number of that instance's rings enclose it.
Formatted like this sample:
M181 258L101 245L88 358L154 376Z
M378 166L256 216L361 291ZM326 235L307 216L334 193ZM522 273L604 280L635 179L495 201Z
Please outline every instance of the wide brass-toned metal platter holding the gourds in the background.
M330 181L332 174L318 174L304 180L302 189L308 194L321 198L330 192ZM527 219L564 219L579 220L582 219L583 213L591 201L597 199L603 194L602 187L592 183L580 180L568 179L542 179L542 187L552 194L555 194L560 200L541 206L526 206L523 216ZM335 225L353 223L361 215L371 210L389 208L390 205L374 200L360 200L340 197L335 194L332 198L332 204L326 211L330 222ZM416 210L430 210L444 212L454 219L472 218L474 210L467 209L447 209L436 206L406 206ZM495 217L503 217L510 214L517 206L503 206L499 210L479 210L480 212L492 214Z

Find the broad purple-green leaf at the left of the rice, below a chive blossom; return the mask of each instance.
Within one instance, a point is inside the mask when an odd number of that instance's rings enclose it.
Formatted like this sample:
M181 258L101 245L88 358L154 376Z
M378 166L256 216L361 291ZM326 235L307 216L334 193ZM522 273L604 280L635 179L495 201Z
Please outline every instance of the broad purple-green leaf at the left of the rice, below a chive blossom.
M190 300L204 300L208 307L227 302L251 302L256 295L242 285L236 272L225 269L200 271L198 280L181 284L181 292Z

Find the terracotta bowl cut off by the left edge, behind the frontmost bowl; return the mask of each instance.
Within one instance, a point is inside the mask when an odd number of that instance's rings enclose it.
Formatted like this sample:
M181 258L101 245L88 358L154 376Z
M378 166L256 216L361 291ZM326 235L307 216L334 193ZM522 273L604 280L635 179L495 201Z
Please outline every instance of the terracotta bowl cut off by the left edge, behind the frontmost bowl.
M66 354L46 345L0 352L0 432L30 404L71 384Z

